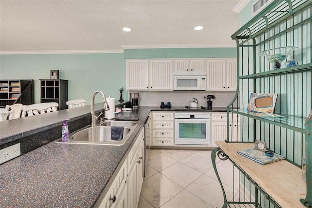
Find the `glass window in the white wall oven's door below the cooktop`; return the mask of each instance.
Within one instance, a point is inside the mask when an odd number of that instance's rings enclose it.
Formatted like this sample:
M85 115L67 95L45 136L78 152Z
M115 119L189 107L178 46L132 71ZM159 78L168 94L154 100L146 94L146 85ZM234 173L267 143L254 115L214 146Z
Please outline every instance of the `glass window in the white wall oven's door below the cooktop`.
M206 139L205 123L179 123L179 139Z

